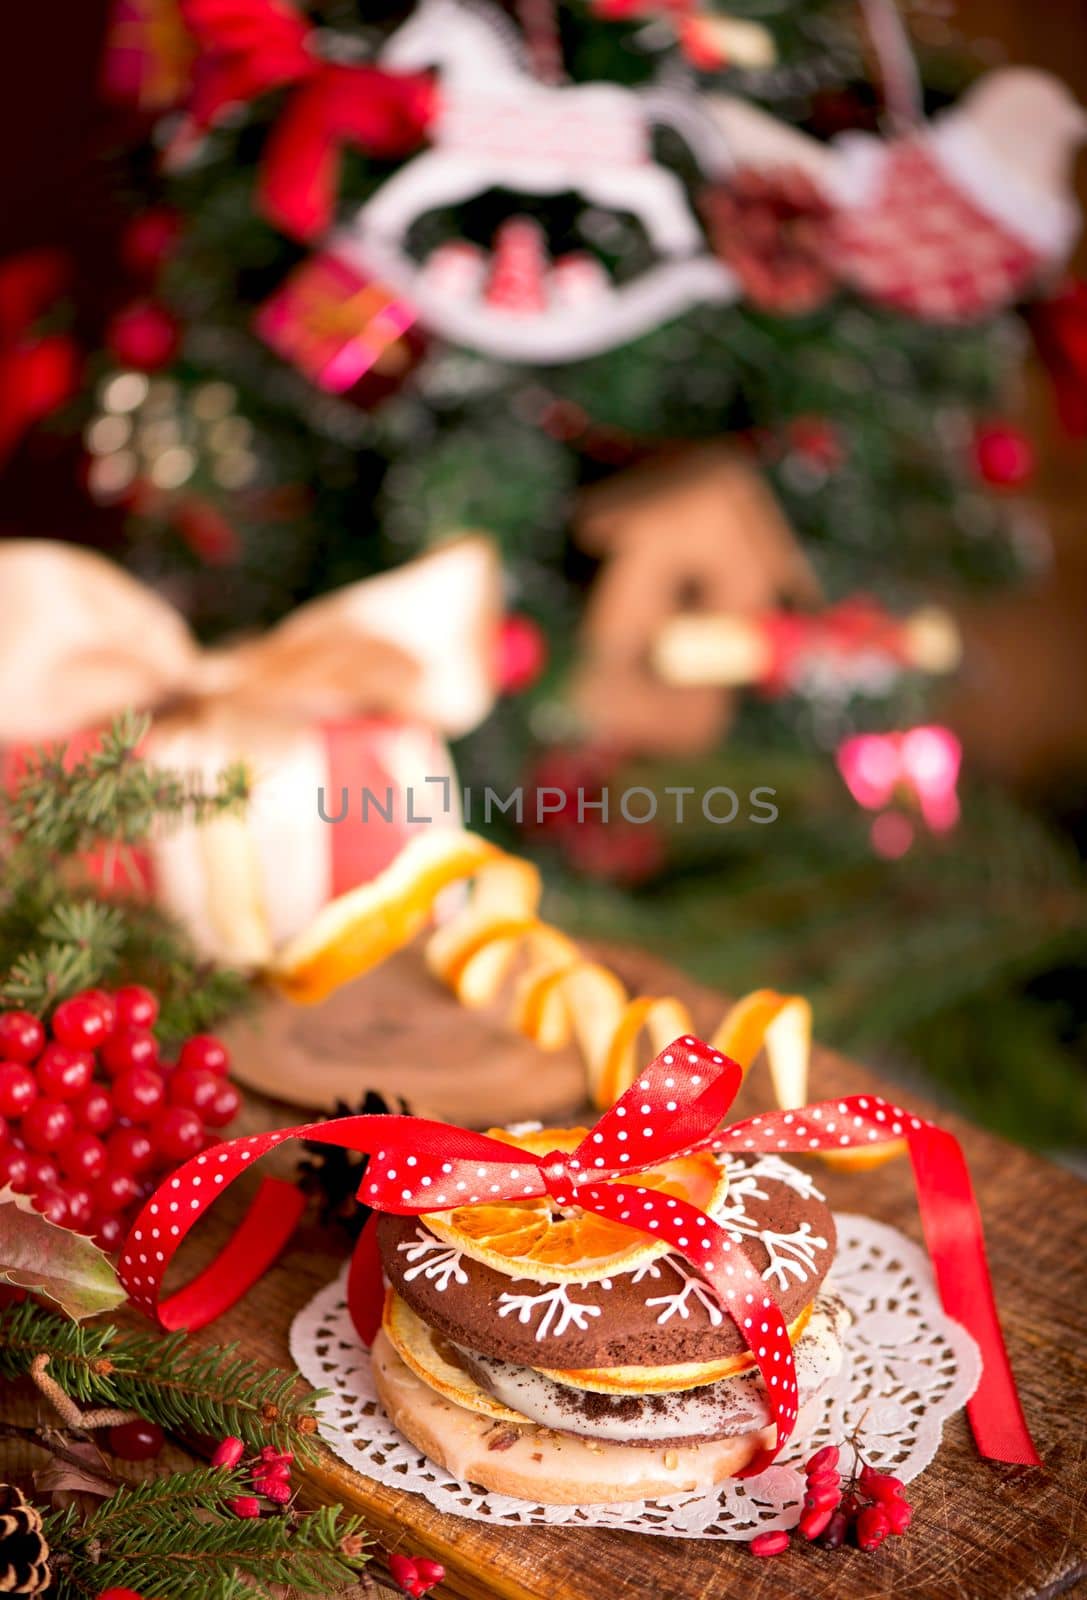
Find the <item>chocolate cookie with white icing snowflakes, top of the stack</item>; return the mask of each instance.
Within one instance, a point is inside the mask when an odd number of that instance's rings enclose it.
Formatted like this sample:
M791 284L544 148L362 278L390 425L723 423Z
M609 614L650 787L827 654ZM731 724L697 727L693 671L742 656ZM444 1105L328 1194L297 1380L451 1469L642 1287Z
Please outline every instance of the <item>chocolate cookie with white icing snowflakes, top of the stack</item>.
M775 1155L727 1158L716 1218L797 1323L834 1259L834 1221L807 1173ZM378 1242L397 1294L455 1344L536 1368L674 1366L743 1357L744 1341L703 1278L663 1256L599 1283L509 1278L435 1238L416 1218L383 1216Z

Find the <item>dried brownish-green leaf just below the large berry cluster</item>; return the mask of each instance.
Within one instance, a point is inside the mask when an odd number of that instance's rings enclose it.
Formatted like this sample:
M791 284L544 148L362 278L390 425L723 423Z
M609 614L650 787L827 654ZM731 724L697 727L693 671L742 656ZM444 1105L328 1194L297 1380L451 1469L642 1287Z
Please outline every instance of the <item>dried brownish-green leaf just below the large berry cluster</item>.
M128 1298L98 1245L46 1222L13 1189L0 1189L0 1283L42 1294L72 1322L101 1317Z

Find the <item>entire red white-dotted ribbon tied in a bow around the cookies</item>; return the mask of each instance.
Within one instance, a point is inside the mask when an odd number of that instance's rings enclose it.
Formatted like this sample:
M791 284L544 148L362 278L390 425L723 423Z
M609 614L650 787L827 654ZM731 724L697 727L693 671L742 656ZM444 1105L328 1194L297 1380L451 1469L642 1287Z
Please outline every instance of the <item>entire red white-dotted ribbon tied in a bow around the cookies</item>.
M748 1469L760 1472L797 1416L792 1347L781 1309L746 1254L743 1238L704 1211L637 1182L661 1162L714 1152L829 1152L903 1144L945 1309L981 1349L983 1376L969 1403L978 1450L996 1461L1037 1466L1004 1349L985 1258L981 1219L959 1142L876 1094L768 1112L722 1128L743 1074L701 1040L677 1038L607 1110L573 1152L528 1150L424 1117L339 1117L231 1139L178 1168L139 1213L120 1261L133 1301L166 1328L199 1328L234 1304L271 1266L301 1214L291 1184L266 1181L227 1248L186 1288L162 1299L170 1261L215 1198L283 1139L303 1138L370 1157L359 1198L375 1213L419 1216L495 1200L551 1195L576 1203L696 1267L733 1318L762 1374L776 1445ZM371 1219L373 1221L373 1219ZM368 1344L381 1322L381 1264L368 1226L352 1261L347 1301Z

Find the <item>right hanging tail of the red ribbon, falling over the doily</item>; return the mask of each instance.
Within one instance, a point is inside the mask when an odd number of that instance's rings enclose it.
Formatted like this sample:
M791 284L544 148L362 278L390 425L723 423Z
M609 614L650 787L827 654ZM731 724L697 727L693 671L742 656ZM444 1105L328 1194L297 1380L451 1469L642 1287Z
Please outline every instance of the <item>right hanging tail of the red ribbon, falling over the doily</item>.
M959 1141L943 1128L929 1128L909 1141L909 1158L940 1298L981 1350L981 1381L967 1402L978 1450L991 1461L1041 1467L1004 1346L981 1216Z

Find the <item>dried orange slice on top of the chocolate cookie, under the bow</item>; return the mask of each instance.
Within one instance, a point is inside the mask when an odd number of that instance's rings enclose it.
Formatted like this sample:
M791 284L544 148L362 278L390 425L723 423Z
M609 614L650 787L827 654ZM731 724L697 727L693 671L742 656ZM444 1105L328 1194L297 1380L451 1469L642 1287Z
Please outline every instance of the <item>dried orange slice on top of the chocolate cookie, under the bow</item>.
M541 1128L514 1136L491 1128L490 1136L546 1155L549 1150L576 1149L586 1130ZM632 1173L631 1181L663 1195L676 1195L703 1211L719 1206L728 1189L724 1166L708 1152ZM559 1206L548 1195L429 1211L423 1221L432 1234L475 1261L511 1278L533 1278L536 1283L596 1283L615 1272L631 1272L669 1250L623 1222L576 1205Z

